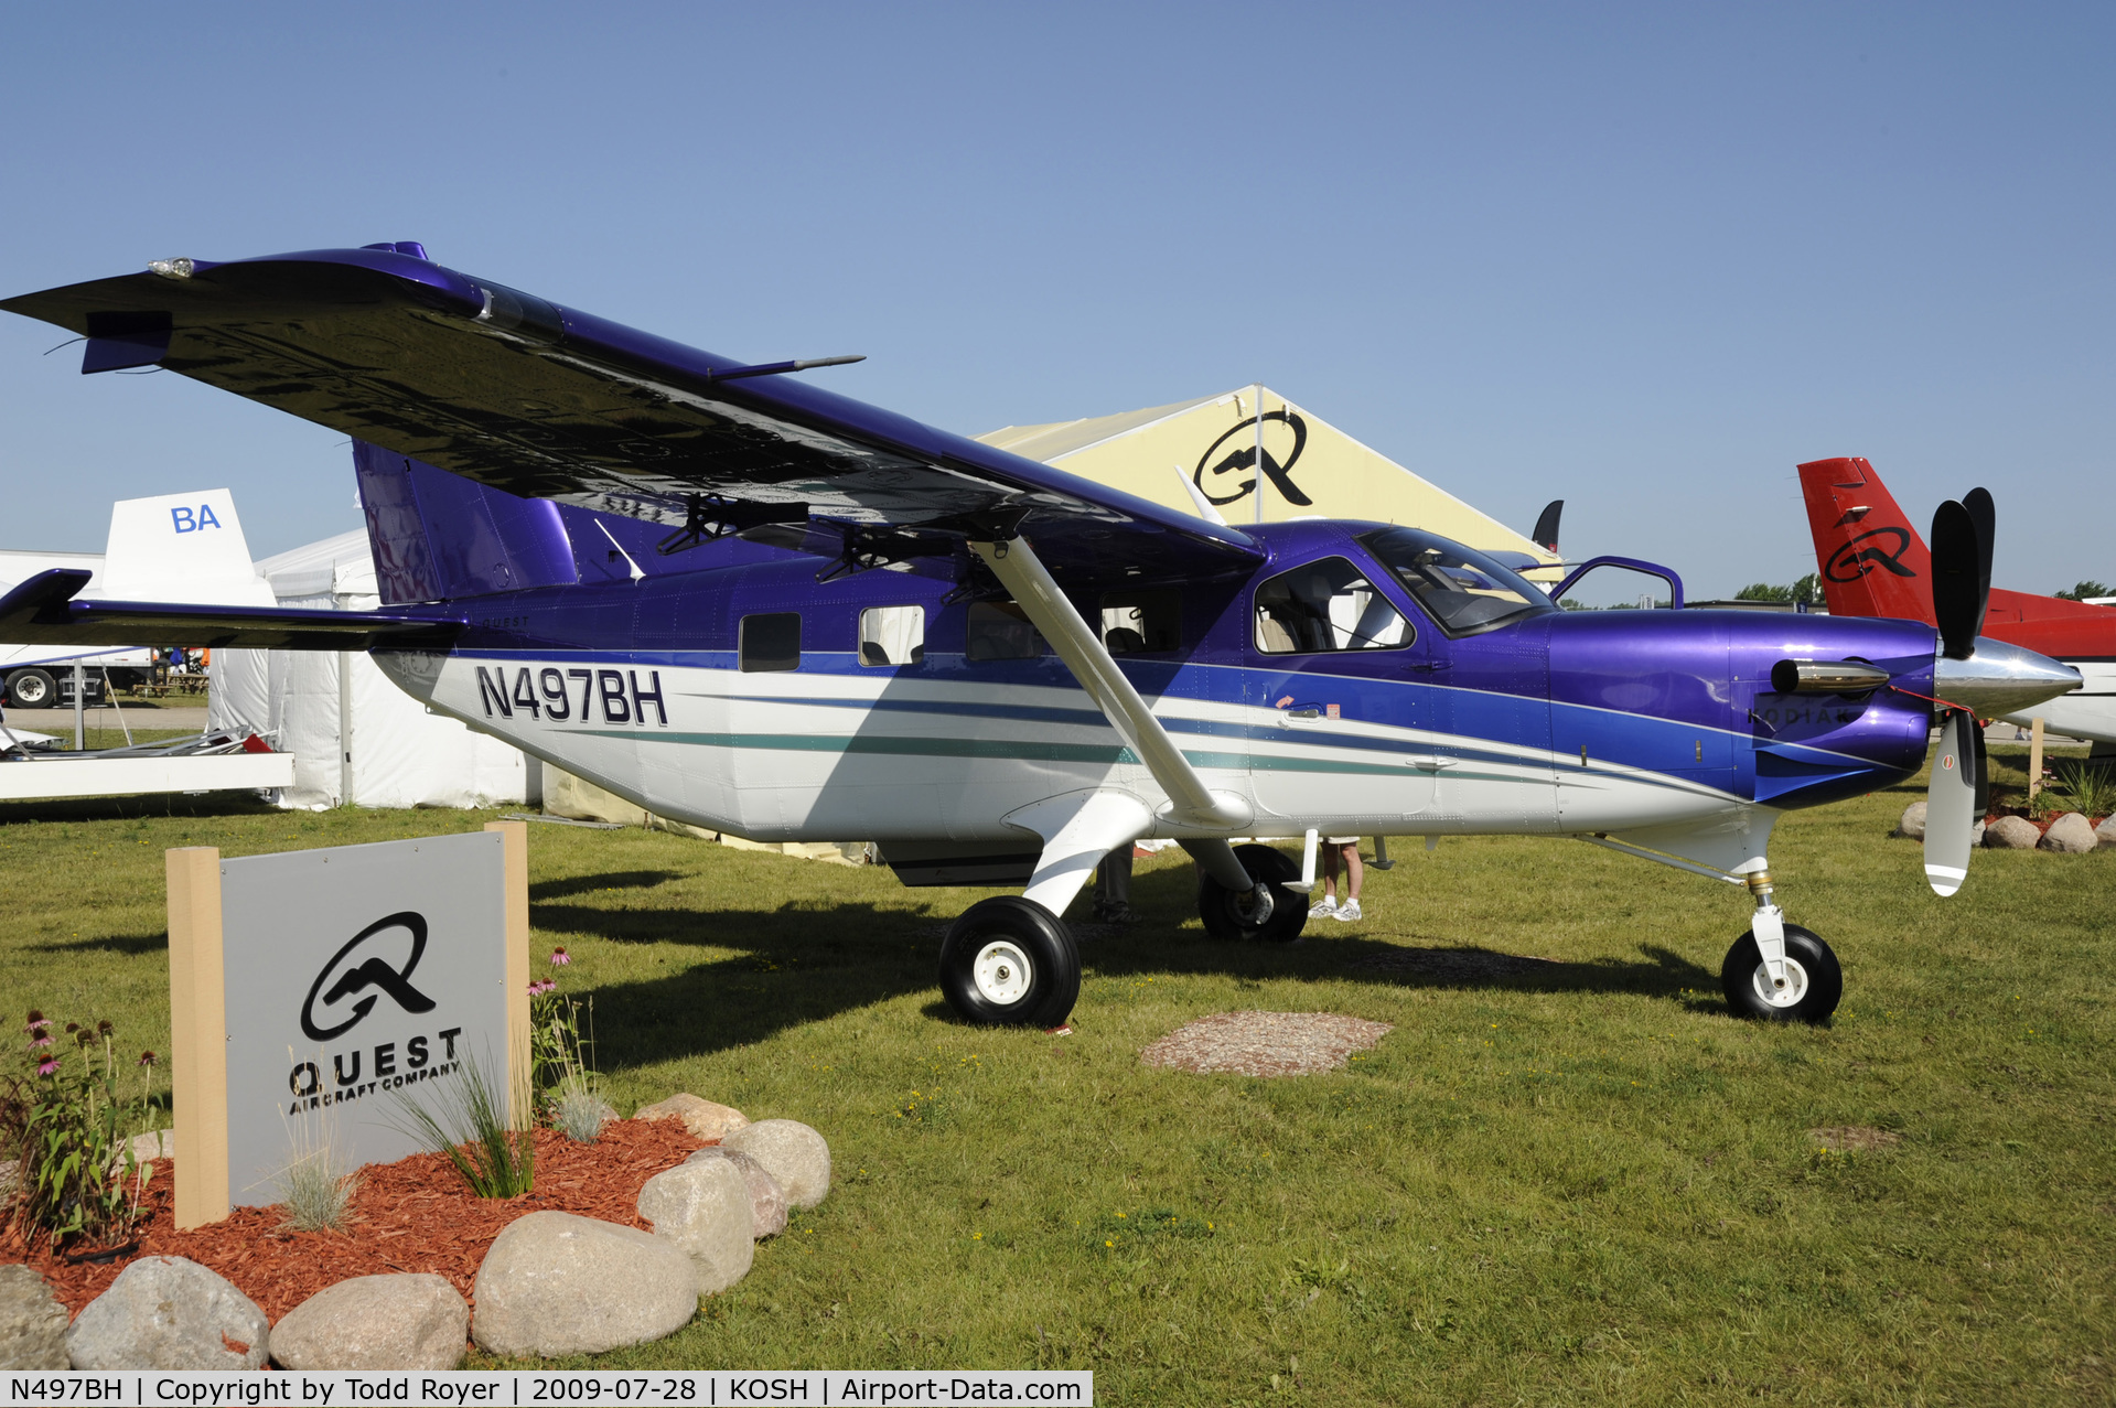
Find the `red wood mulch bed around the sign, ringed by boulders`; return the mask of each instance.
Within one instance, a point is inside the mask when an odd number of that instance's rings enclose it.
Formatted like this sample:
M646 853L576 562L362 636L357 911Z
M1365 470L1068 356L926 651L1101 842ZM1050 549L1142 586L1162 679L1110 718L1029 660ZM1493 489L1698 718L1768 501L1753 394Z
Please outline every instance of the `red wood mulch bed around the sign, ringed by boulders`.
M239 1207L226 1222L178 1232L171 1162L154 1165L140 1247L108 1264L70 1266L49 1245L25 1249L8 1228L0 1258L28 1262L72 1315L110 1289L142 1256L182 1256L218 1270L275 1323L315 1292L349 1277L432 1270L470 1300L485 1249L523 1213L580 1213L645 1230L639 1188L703 1150L679 1120L618 1120L595 1143L535 1131L535 1188L521 1198L478 1198L440 1154L413 1154L360 1171L355 1222L345 1232L290 1232L275 1207Z

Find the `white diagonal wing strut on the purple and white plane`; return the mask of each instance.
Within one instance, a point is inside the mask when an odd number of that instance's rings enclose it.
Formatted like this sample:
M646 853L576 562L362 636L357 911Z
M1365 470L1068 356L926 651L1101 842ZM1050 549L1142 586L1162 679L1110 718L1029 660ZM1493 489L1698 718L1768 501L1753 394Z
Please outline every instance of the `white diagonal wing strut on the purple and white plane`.
M1255 819L1246 800L1234 792L1215 792L1204 783L1198 769L1162 728L1162 720L1153 718L1153 709L1117 669L1117 661L1111 658L1102 639L1079 618L1026 538L971 542L969 546L992 570L992 576L1014 593L1014 601L1028 614L1037 631L1043 631L1043 639L1052 644L1079 686L1102 709L1109 726L1153 773L1153 781L1168 794L1170 819L1179 826L1215 832L1234 832Z

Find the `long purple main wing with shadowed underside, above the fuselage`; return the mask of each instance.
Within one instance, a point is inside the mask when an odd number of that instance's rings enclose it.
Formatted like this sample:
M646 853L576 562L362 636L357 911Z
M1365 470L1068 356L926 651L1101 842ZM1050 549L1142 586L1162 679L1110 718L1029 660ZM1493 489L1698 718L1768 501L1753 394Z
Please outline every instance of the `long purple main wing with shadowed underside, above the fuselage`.
M675 529L777 523L779 546L882 559L1035 531L1060 578L1261 557L1240 529L777 375L794 364L683 347L398 248L159 260L0 307L83 335L85 373L163 366L508 493Z

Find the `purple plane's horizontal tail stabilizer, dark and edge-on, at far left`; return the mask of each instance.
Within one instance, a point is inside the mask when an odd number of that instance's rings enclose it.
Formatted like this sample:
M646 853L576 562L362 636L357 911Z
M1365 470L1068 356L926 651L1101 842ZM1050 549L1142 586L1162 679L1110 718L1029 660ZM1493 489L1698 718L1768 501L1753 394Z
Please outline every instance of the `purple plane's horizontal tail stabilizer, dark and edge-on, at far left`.
M38 572L0 597L0 639L21 646L254 646L258 650L366 650L442 646L459 620L398 612L305 612L271 606L76 601L89 574Z

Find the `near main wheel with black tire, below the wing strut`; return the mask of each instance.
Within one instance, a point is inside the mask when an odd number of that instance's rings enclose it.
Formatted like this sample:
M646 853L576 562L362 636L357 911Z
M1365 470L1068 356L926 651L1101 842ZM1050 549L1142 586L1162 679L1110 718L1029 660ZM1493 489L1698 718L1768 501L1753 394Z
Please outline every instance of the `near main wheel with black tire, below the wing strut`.
M1035 900L978 900L942 940L940 991L978 1027L1058 1027L1079 1001L1079 949Z

